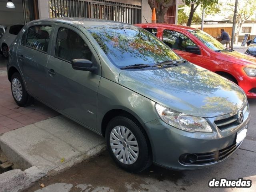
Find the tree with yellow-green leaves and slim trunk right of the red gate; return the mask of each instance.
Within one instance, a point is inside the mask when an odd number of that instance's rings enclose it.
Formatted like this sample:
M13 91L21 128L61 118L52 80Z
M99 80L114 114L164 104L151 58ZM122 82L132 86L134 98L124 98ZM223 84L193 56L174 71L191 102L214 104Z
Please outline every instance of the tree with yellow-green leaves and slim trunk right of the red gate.
M209 8L218 3L218 0L182 0L187 6L190 6L190 13L188 17L187 26L191 26L194 13L199 5L203 8Z

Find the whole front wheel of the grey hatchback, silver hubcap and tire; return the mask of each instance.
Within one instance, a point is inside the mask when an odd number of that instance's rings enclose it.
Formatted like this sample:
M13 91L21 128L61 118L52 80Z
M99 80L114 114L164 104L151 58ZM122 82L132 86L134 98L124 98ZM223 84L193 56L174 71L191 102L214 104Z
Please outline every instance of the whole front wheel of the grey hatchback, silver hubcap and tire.
M141 172L152 163L146 133L133 118L117 116L110 120L106 143L116 164L128 172Z

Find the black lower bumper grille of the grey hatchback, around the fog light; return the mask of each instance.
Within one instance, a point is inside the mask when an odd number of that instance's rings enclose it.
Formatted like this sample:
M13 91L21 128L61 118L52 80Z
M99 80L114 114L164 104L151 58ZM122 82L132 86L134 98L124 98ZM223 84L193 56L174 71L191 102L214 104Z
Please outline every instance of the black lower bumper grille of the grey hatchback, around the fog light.
M222 161L230 156L240 145L232 144L224 149L209 152L209 153L195 153L195 154L183 154L180 156L180 163L185 165L204 165ZM197 159L193 161L187 160L189 155L196 155Z

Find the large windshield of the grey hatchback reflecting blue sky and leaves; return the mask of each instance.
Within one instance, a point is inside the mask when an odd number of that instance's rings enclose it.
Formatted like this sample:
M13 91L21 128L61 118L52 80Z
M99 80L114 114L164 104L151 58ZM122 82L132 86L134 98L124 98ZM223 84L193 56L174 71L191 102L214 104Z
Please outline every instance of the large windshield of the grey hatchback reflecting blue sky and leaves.
M168 46L142 28L105 28L88 30L108 59L118 68L179 60Z

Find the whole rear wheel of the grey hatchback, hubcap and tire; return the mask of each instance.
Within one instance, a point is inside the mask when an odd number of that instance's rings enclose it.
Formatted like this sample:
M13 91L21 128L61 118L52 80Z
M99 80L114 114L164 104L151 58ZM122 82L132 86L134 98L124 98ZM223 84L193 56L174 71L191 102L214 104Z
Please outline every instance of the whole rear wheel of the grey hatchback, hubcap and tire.
M11 78L11 90L14 101L18 106L28 106L32 101L32 97L26 92L24 82L19 73L14 73Z

